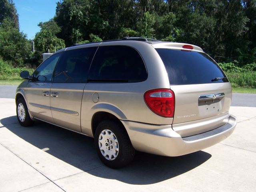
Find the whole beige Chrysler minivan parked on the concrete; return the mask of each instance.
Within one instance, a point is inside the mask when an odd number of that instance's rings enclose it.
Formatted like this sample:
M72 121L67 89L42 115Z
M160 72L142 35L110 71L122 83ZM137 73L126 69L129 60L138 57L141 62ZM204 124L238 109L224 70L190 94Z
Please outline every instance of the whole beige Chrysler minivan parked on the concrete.
M228 78L194 45L124 38L52 54L16 91L18 122L42 120L95 140L104 164L135 151L181 156L234 131Z

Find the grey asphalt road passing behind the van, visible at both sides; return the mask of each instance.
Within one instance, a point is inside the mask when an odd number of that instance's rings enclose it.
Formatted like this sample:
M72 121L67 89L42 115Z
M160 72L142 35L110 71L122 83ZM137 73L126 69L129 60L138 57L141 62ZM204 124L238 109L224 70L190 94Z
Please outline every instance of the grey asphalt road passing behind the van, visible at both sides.
M15 97L16 85L0 85L0 98ZM256 94L233 93L231 106L256 107Z

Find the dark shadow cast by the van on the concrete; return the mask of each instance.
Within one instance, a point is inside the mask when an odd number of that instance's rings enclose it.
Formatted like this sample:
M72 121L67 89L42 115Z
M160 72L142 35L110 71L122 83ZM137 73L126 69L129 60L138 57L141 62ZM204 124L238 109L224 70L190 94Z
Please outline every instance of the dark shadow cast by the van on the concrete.
M198 151L180 157L164 157L136 152L134 161L121 169L104 166L94 149L94 139L38 121L31 127L22 127L16 116L0 120L8 130L37 148L94 176L115 179L128 184L154 184L184 174L211 158ZM88 168L88 165L94 165Z

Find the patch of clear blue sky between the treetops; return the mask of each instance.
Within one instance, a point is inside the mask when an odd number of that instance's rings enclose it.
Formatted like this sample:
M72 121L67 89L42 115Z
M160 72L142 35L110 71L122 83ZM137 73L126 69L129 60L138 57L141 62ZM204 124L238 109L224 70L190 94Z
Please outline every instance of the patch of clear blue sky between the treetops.
M35 37L40 31L39 22L48 21L55 15L56 2L59 0L13 0L19 14L20 31L27 34L28 39Z

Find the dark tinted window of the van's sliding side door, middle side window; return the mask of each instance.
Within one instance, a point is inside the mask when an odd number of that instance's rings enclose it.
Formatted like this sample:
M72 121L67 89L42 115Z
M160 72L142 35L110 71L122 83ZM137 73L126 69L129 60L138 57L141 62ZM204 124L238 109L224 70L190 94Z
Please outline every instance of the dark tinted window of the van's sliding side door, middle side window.
M85 83L97 47L64 51L54 72L53 82Z

